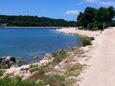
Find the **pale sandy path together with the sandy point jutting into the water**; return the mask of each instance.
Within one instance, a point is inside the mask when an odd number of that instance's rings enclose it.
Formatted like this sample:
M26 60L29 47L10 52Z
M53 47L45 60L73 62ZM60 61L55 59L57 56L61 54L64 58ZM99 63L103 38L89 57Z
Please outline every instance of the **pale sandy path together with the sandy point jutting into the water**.
M87 57L83 61L87 67L79 76L79 86L115 86L115 83L113 83L115 80L115 77L113 77L115 76L115 41L113 40L115 27L109 27L102 32L84 32L75 29L70 31L67 28L58 31L70 34L77 33L89 37L93 36L95 38L91 46L82 48L87 51Z

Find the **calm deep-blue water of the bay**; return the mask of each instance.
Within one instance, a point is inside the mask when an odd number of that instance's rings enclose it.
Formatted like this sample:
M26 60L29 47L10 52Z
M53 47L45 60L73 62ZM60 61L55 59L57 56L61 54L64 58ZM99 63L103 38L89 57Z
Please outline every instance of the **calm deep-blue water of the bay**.
M0 28L0 57L24 57L31 62L34 56L57 51L68 46L79 46L78 36L59 33L56 28Z

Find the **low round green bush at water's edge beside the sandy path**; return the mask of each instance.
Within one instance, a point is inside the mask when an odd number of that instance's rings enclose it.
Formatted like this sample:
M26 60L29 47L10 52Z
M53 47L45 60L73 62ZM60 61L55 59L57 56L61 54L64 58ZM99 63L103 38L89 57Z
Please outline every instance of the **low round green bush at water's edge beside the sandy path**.
M94 40L94 37L81 37L80 38L81 46L85 47L87 45L91 45L92 40Z

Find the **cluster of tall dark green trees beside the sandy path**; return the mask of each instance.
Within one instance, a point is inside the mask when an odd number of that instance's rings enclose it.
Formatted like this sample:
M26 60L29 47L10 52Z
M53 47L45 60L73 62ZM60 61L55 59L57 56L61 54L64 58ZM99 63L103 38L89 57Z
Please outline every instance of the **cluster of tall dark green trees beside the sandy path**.
M115 10L112 6L99 9L87 7L84 12L80 12L77 18L77 25L90 30L104 29L115 25L114 17Z

